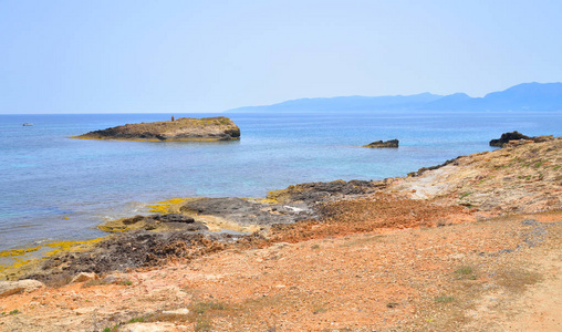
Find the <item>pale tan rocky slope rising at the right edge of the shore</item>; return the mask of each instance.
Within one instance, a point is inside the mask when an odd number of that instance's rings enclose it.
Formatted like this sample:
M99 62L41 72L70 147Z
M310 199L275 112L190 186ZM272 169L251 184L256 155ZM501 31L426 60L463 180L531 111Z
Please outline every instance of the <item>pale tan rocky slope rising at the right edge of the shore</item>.
M562 137L538 136L523 142L460 156L436 169L420 169L397 179L388 190L497 214L561 209Z

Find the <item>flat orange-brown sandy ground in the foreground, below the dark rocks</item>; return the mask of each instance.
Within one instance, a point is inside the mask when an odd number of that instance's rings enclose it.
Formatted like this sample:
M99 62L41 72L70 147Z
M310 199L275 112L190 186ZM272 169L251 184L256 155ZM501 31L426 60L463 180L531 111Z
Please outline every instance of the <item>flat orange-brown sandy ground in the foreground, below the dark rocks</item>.
M1 311L21 313L3 314L0 329L560 331L561 221L513 216L229 249L118 276L131 286L1 299ZM177 309L189 312L163 313Z

